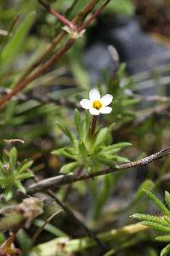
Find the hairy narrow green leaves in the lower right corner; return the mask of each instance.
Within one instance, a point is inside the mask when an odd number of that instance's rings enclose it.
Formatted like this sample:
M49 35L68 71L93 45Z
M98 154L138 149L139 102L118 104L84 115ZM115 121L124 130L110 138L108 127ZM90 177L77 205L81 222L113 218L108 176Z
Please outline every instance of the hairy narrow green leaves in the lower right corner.
M153 193L144 189L145 195L147 195L151 201L153 201L159 210L163 213L162 216L154 216L150 214L135 213L132 215L133 218L137 218L144 224L150 227L152 230L161 232L162 236L157 236L157 241L170 242L170 194L165 192L165 201L167 207L156 197ZM161 256L167 256L170 253L170 243L167 247L164 247L161 251Z

